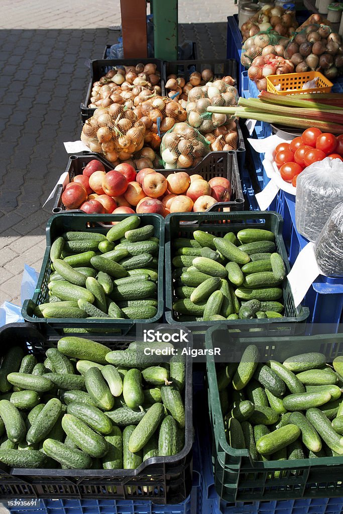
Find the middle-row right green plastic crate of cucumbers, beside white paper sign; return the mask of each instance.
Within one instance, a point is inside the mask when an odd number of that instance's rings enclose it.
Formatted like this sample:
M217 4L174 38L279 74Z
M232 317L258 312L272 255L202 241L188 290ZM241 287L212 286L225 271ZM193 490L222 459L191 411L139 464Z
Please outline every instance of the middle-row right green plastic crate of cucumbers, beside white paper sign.
M287 272L290 271L287 252L282 238L283 219L276 212L266 211L240 211L240 212L202 212L202 213L173 213L166 217L166 320L168 323L183 323L182 317L173 311L173 258L172 241L176 237L192 237L195 230L204 230L218 237L223 237L227 232L237 232L243 228L263 228L271 230L275 234L277 251L282 256ZM309 317L309 309L301 305L295 307L290 285L285 279L283 282L283 302L285 316L271 319L228 320L230 325L240 325L252 328L266 324L279 324L290 322L303 322ZM187 326L204 329L212 324L222 324L223 321L186 322ZM225 322L224 322L225 323Z

